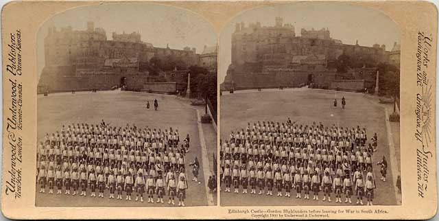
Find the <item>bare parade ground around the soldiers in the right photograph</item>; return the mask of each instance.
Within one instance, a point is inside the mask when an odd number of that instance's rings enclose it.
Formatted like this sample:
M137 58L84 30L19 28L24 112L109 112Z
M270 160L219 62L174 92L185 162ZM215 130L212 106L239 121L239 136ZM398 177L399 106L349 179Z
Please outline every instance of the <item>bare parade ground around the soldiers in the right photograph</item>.
M333 100L337 97L346 98L346 108L333 107ZM234 94L223 93L221 97L221 137L225 139L231 130L245 128L248 122L255 121L286 121L290 117L298 124L312 124L313 121L322 122L325 126L333 124L354 127L366 127L368 135L377 132L379 148L374 154L374 165L385 156L390 164L388 133L385 124L385 112L374 97L365 97L361 93L344 93L337 91L323 91L312 89L268 89L261 92L235 91ZM395 133L394 131L393 133ZM399 131L398 131L399 132ZM395 142L395 152L399 154L399 142ZM392 156L394 157L394 156ZM399 163L397 163L399 171ZM384 183L379 180L379 167L374 167L377 176L374 205L396 205L396 194L393 179L396 176L388 168L388 179ZM250 192L250 191L249 191ZM274 191L274 195L276 195ZM340 203L303 200L294 198L279 198L276 196L257 196L250 194L233 194L221 192L221 205L228 206L268 206L268 205L340 205ZM321 193L320 193L321 194ZM320 196L320 199L322 196ZM353 200L354 201L354 200ZM355 201L354 201L355 202ZM364 201L366 204L366 201Z

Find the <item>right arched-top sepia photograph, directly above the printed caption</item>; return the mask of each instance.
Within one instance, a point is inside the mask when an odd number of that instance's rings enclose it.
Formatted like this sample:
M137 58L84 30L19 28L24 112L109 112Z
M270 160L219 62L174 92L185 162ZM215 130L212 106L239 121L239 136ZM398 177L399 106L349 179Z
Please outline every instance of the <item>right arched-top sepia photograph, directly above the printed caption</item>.
M219 37L222 206L401 205L400 30L336 2L254 8Z

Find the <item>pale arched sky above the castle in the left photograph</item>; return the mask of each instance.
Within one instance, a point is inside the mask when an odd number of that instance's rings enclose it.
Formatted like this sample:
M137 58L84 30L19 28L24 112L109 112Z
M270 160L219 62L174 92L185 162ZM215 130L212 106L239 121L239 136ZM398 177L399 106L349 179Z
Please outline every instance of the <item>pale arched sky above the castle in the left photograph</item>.
M56 26L61 30L70 25L73 30L86 30L87 21L104 28L108 40L112 40L112 32L139 32L141 40L154 47L166 47L168 43L171 49L189 46L195 47L198 54L204 45L217 44L211 24L189 10L147 3L85 6L56 14L40 27L37 34L38 77L44 67L44 37L48 27Z

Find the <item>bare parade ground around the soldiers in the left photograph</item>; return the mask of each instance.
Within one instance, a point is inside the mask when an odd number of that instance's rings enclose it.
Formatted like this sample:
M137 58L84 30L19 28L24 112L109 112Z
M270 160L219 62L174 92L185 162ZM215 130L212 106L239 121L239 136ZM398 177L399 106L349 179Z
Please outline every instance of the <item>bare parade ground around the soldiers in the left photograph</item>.
M159 110L147 110L146 100L153 104L158 100ZM177 128L180 139L187 134L191 137L191 150L187 154L187 161L193 161L195 156L200 161L199 180L204 181L202 171L202 156L196 112L189 102L176 99L171 95L152 95L146 93L131 93L108 91L98 93L60 93L48 97L38 95L38 140L43 139L46 132L60 130L62 124L88 122L99 124L104 119L111 126L150 126L152 128ZM191 167L187 167L188 178L191 179ZM47 191L46 191L47 193ZM89 196L90 194L88 194ZM147 202L127 202L106 198L91 198L83 196L56 196L36 192L37 207L163 207L167 203L149 204ZM165 199L167 199L165 197ZM166 200L167 201L167 200ZM216 202L216 201L215 201ZM207 205L206 189L201 185L189 181L186 206Z

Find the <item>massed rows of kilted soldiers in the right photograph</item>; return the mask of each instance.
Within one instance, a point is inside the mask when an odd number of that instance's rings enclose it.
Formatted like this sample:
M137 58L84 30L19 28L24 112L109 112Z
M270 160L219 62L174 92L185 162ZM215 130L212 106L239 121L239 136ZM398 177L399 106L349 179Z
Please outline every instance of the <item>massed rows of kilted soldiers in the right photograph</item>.
M366 128L325 127L321 123L300 125L285 122L258 121L232 131L221 142L221 181L225 192L265 194L363 205L366 197L372 205L376 188L372 156L377 148L377 134L368 141ZM387 163L379 163L381 181L385 181ZM257 193L259 189L259 193ZM266 192L266 193L265 193ZM303 195L302 195L303 194Z

